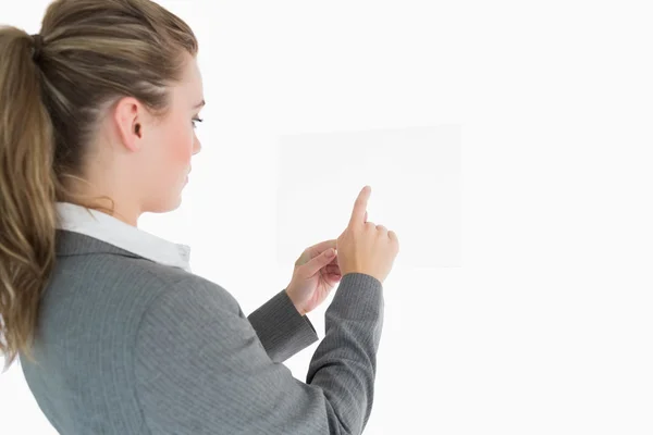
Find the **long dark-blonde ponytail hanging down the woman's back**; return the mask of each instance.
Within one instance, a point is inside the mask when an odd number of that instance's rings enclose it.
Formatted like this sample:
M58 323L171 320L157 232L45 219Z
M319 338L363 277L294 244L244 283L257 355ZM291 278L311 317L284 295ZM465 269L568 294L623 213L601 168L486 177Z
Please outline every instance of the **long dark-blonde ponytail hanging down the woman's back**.
M0 351L34 361L38 306L54 265L52 121L33 38L0 27Z

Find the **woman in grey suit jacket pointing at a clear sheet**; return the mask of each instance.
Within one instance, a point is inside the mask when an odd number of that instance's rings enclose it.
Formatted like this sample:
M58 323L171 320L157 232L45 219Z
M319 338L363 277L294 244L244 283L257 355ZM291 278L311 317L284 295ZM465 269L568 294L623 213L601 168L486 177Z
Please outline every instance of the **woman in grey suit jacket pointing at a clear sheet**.
M398 252L369 186L249 316L137 228L178 207L200 150L197 46L149 0L59 0L40 34L0 29L0 350L61 434L360 434ZM300 382L282 362L338 281Z

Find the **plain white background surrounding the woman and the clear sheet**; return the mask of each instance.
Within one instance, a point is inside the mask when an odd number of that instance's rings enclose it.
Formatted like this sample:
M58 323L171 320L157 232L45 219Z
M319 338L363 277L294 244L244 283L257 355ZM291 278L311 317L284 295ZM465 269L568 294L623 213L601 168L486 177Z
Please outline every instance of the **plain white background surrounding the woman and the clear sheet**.
M301 208L280 199L281 167L347 162L320 134L459 127L460 256L403 261L385 281L366 435L653 433L649 2L160 3L199 38L208 105L182 207L139 225L190 245L194 272L246 313L306 247L340 235L320 225L344 225L365 184L397 262L438 231L415 212L441 206L435 185L375 189L349 164L334 197ZM36 33L45 5L3 2L1 21ZM300 134L312 148L284 153ZM414 206L381 203L397 196ZM289 210L297 233L283 229ZM328 303L308 314L320 338ZM297 378L316 347L286 361ZM9 433L52 433L17 364L0 376L0 413Z

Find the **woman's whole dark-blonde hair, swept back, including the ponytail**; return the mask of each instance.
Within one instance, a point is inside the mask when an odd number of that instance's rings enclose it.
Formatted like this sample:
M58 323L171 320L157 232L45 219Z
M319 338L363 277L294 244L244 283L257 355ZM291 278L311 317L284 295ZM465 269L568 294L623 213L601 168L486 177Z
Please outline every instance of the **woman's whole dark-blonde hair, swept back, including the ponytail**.
M22 29L0 26L0 353L7 370L30 345L56 261L56 202L93 207L64 178L83 162L101 116L123 97L157 120L170 111L197 39L150 0L57 0L42 20L40 55ZM102 197L107 198L107 197ZM113 200L109 198L113 203Z

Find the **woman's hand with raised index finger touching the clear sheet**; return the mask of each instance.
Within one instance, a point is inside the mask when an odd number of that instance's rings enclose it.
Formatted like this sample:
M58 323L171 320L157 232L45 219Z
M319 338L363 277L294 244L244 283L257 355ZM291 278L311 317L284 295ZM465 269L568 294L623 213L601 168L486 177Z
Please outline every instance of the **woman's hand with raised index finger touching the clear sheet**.
M358 194L349 224L336 239L335 249L343 277L348 273L365 273L383 283L399 252L399 240L383 225L367 222L371 191L370 186L365 186Z

